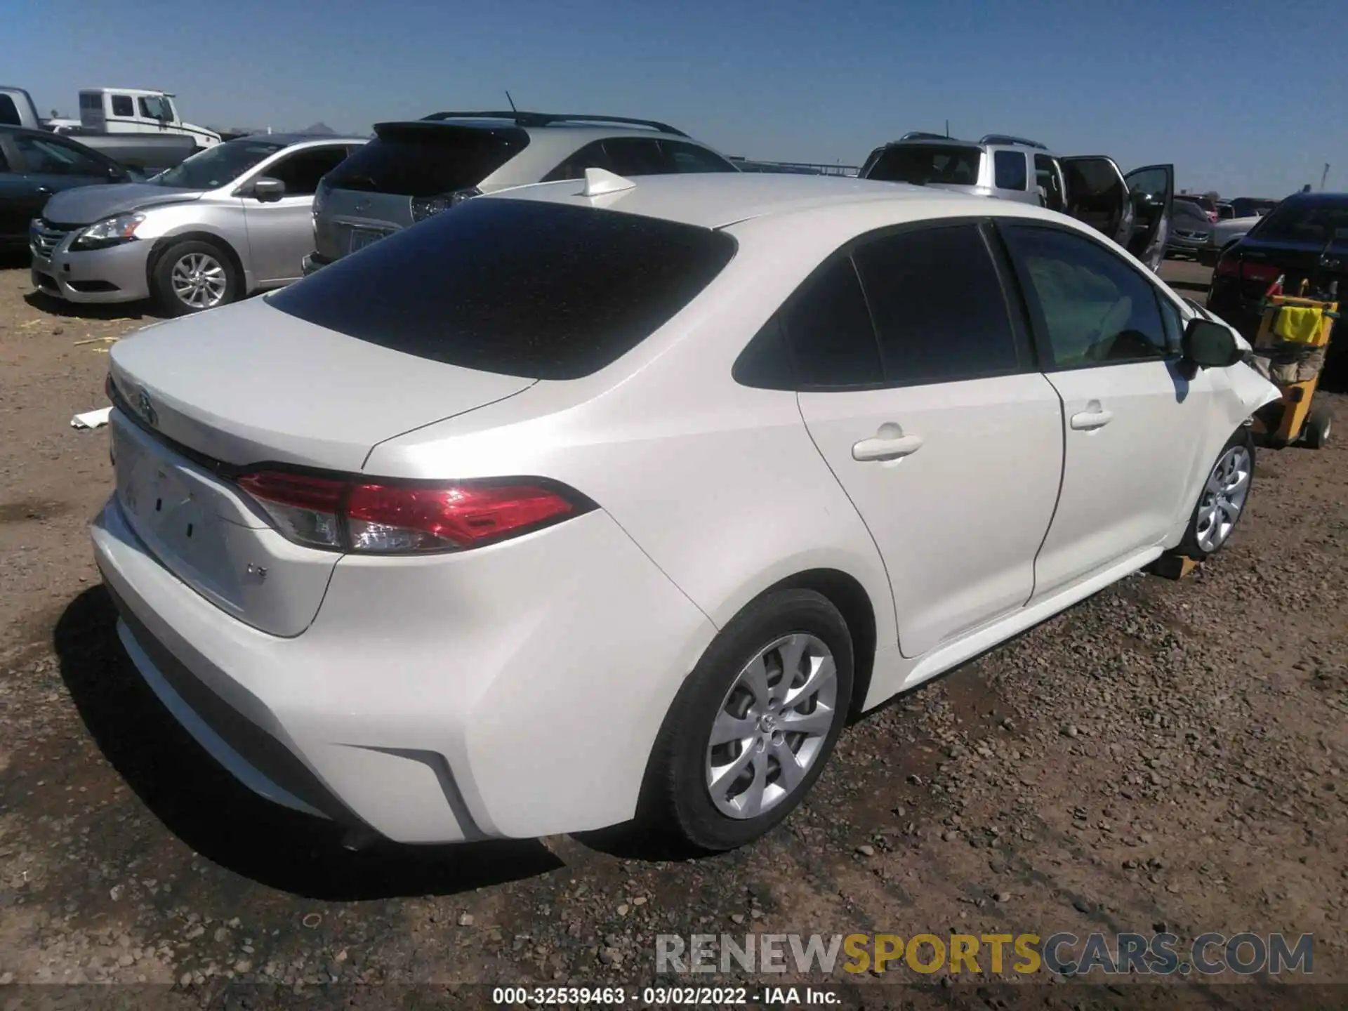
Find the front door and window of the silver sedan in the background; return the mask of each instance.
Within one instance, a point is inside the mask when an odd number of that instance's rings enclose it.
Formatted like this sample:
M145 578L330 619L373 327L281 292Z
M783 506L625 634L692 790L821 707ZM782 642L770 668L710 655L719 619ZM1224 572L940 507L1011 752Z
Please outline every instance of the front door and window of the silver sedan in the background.
M324 144L282 154L236 190L243 198L248 257L253 283L274 287L298 279L301 263L314 249L314 193L318 181L346 160L349 147ZM280 198L262 200L252 185L260 178L286 185Z

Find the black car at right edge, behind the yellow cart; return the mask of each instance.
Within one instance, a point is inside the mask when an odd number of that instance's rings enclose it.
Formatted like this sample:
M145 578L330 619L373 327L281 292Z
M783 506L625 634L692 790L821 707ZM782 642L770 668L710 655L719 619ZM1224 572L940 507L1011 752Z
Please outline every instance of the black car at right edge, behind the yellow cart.
M1302 280L1325 291L1339 282L1348 301L1348 193L1298 193L1278 204L1237 243L1228 245L1212 275L1208 307L1254 338L1259 302L1283 278L1283 293L1295 295ZM1337 373L1348 355L1348 330L1336 324L1325 372Z

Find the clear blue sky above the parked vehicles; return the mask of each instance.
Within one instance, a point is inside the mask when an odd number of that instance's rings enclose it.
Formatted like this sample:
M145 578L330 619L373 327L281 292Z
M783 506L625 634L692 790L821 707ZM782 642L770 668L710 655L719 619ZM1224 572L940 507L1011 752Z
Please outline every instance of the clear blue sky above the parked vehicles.
M0 0L4 84L163 88L217 125L365 132L446 108L661 119L749 158L856 164L909 129L1011 132L1178 186L1348 190L1343 0Z

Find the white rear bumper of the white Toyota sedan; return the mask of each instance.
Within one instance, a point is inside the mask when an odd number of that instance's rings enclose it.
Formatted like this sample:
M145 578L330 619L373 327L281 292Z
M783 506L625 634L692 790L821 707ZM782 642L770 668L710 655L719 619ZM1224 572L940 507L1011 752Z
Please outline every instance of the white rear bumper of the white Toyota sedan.
M400 842L631 818L714 635L604 512L461 555L348 555L294 638L182 584L116 500L93 543L132 662L217 762L278 803Z

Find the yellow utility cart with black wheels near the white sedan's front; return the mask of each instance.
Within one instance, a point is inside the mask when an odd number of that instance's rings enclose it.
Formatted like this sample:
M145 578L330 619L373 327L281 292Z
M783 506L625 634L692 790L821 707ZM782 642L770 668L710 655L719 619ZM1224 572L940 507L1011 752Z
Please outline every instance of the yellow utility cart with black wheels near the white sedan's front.
M1279 287L1277 283L1273 290ZM1328 291L1312 293L1302 280L1295 295L1264 297L1254 365L1282 391L1282 400L1255 414L1254 434L1262 445L1281 449L1301 442L1320 449L1329 438L1333 415L1328 403L1316 403L1316 384L1337 318L1337 282Z

